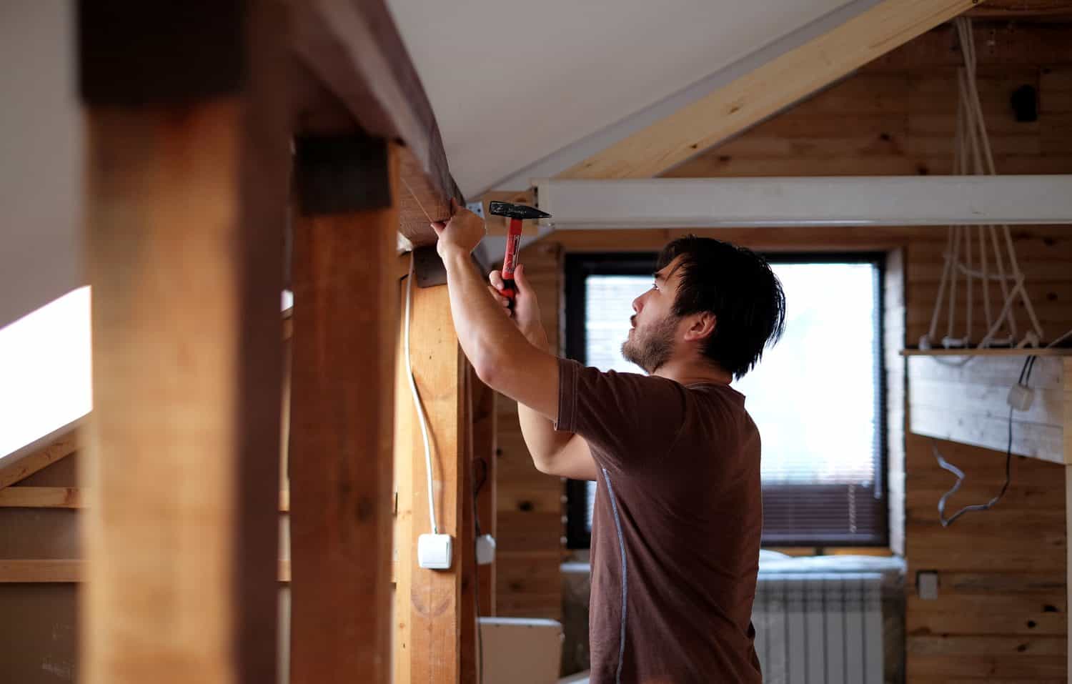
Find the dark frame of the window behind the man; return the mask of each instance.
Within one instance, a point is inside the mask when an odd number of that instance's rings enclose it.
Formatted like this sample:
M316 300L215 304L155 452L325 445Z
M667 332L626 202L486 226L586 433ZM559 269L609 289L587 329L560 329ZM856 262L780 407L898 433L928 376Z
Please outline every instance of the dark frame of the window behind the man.
M875 278L875 346L873 350L875 363L875 453L878 463L875 467L876 484L874 492L878 494L877 534L861 536L854 539L839 539L824 536L790 536L781 535L769 538L764 531L763 548L783 547L889 547L890 545L890 511L889 511L889 473L890 455L887 442L888 435L888 403L887 365L884 354L885 341L885 302L888 254L882 251L822 251L822 252L760 252L772 265L775 264L869 264L874 267ZM564 309L565 309L565 353L568 358L586 363L585 358L585 287L589 276L650 276L654 271L658 254L655 252L599 252L566 254L564 259ZM591 532L586 529L587 518L586 480L565 480L566 492L566 547L571 550L589 549L592 545ZM799 486L796 486L799 487ZM806 487L806 486L805 486Z

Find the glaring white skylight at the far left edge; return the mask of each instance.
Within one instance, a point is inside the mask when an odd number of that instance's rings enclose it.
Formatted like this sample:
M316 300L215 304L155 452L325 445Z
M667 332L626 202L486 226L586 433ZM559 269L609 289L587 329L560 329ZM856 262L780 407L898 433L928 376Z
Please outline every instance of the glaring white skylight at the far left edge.
M89 286L0 328L0 458L93 405Z

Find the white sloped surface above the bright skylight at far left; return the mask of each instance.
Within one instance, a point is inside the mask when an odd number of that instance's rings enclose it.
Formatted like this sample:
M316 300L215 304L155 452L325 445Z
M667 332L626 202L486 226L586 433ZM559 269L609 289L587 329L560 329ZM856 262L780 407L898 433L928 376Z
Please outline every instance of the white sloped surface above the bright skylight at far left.
M0 327L84 283L74 2L0 2Z

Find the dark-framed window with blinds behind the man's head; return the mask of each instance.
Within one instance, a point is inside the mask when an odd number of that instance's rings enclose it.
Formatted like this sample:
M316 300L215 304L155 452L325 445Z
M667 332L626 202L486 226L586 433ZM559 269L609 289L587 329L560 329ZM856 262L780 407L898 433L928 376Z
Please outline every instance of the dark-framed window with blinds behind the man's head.
M781 341L733 386L763 440L764 546L884 546L881 254L770 254L786 291ZM642 372L621 355L654 254L566 258L566 353ZM595 482L567 484L567 540L591 539Z

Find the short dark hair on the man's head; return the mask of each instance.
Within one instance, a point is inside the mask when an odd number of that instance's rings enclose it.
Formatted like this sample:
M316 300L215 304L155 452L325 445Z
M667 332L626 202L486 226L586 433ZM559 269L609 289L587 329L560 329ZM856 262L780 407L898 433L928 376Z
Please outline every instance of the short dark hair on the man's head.
M781 283L765 258L721 240L695 235L678 238L662 248L656 268L665 268L679 256L683 258L673 313L715 314L715 329L702 353L740 380L785 330Z

